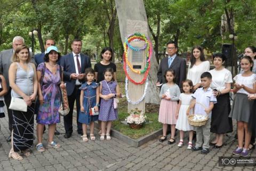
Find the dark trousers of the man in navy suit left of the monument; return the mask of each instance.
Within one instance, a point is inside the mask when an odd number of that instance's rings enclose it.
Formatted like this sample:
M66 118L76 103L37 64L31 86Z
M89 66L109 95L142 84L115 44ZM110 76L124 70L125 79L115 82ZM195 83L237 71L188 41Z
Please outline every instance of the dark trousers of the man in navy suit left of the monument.
M82 123L78 122L79 111L80 111L80 86L75 86L73 93L68 96L68 105L69 105L69 113L63 117L64 126L66 133L73 132L73 110L74 110L74 102L76 100L76 123L77 123L77 132L82 132Z

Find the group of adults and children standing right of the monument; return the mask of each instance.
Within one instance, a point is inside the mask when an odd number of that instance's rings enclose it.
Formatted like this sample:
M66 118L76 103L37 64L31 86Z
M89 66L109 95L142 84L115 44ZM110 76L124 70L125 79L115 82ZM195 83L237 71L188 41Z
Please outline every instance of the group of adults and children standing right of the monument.
M187 149L201 150L206 154L210 146L223 146L224 135L233 131L232 119L235 119L238 145L233 154L246 157L250 149L255 147L256 74L253 69L256 67L256 48L249 46L245 49L241 59L242 70L232 78L231 72L224 67L227 58L221 53L213 54L215 68L210 70L210 62L205 60L203 48L193 47L186 74L186 61L176 55L177 45L171 41L166 46L168 57L163 58L159 65L156 83L161 86L159 97L162 99L158 121L163 123L163 136L159 141L166 140L167 125L170 124L171 138L168 144L175 143L175 129L178 129L178 147L182 147L184 131L189 131ZM234 84L235 94L232 107L229 97L231 84ZM191 126L188 121L191 114L196 117L199 114L207 122L202 126ZM193 131L196 132L195 146L192 143ZM211 132L215 133L212 141Z

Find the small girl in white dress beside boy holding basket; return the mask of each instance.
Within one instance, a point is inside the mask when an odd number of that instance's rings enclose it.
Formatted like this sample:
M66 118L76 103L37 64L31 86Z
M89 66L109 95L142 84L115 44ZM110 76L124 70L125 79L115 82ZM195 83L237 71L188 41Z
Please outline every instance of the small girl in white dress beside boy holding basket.
M183 136L184 131L189 131L189 142L188 142L188 148L191 150L192 148L192 139L193 139L193 129L194 127L189 125L188 118L187 118L187 109L190 105L190 101L192 99L192 92L193 92L193 83L191 80L185 80L182 82L182 89L183 93L180 94L180 101L177 108L177 112L175 114L177 118L176 123L176 129L180 130L180 142L178 144L178 147L183 146ZM190 110L190 114L193 111Z

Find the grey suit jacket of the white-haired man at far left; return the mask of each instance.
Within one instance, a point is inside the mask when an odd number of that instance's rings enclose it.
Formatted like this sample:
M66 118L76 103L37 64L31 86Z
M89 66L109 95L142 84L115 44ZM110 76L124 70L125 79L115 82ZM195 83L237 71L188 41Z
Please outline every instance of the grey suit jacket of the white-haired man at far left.
M33 53L29 52L31 56L30 62L35 64ZM13 55L13 49L3 50L0 52L0 72L3 73L3 76L6 80L7 89L9 90L9 67L11 65L11 59Z

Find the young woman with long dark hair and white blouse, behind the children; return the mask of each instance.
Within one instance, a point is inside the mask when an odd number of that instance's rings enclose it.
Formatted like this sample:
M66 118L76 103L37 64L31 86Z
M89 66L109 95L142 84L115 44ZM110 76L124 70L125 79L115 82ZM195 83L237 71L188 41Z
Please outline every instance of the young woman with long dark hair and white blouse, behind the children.
M201 87L201 74L209 70L210 62L205 61L203 47L194 46L191 52L187 75L187 79L193 82L194 90L196 90L198 87Z

